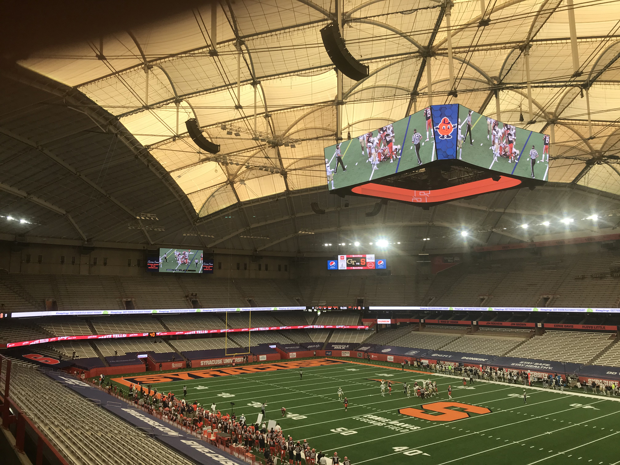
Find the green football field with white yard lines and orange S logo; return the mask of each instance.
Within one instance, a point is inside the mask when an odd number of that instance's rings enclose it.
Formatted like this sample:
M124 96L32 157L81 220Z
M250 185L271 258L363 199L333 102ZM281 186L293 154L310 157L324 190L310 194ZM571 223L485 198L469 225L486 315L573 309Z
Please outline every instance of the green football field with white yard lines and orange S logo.
M478 381L464 389L454 376L342 359L157 373L115 379L177 396L186 385L187 401L216 402L222 412L234 402L248 422L267 402L267 420L280 422L295 441L306 439L329 456L337 451L354 465L620 464L620 402L601 396L528 388L524 404L521 385ZM391 395L381 396L378 379L392 381ZM412 392L407 399L402 383L422 379L435 380L440 394L422 401ZM448 385L458 405L436 404L448 401ZM349 399L347 412L338 387Z

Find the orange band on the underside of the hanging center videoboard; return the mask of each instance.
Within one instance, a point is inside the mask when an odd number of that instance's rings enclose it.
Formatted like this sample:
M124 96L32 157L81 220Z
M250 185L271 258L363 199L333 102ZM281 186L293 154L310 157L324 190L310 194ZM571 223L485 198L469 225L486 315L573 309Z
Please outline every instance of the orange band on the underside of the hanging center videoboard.
M500 176L500 180L494 181L490 177L479 181L467 182L466 184L454 185L443 189L435 190L412 190L390 185L376 184L369 182L358 185L351 189L351 192L360 195L370 195L371 197L391 198L413 203L435 203L454 200L455 198L469 197L485 192L508 189L521 184L521 181L513 177Z

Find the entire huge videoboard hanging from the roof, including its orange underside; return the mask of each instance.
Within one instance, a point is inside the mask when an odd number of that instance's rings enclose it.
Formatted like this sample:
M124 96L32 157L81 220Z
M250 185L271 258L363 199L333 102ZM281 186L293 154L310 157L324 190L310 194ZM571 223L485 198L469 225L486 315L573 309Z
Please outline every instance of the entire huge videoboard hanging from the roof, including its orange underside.
M432 105L325 148L330 192L443 203L549 179L549 136Z

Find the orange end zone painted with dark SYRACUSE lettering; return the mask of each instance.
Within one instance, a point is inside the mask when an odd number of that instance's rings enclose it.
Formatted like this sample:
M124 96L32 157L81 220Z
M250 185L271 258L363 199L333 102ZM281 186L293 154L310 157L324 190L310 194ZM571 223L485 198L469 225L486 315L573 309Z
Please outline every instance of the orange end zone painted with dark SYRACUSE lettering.
M264 371L291 370L293 368L310 368L311 366L340 365L347 363L340 360L328 360L321 358L319 360L296 360L285 361L282 363L265 363L264 365L249 365L239 368L219 368L218 370L196 370L196 371L179 371L178 373L162 373L162 374L144 374L131 376L130 378L112 378L125 386L131 384L156 384L169 383L170 381L189 381L190 379L218 378L221 376L230 376L231 374L249 374L262 373Z

